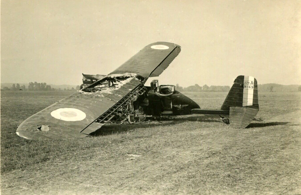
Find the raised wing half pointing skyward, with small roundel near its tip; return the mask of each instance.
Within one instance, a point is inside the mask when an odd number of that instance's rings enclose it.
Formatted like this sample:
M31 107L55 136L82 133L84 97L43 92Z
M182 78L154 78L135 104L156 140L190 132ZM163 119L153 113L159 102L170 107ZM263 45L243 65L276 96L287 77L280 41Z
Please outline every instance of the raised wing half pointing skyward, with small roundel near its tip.
M149 44L109 75L135 73L144 78L157 77L169 66L180 51L181 46L174 43L156 42Z

